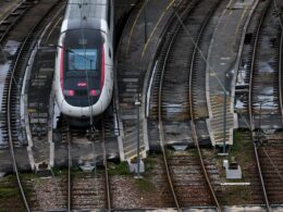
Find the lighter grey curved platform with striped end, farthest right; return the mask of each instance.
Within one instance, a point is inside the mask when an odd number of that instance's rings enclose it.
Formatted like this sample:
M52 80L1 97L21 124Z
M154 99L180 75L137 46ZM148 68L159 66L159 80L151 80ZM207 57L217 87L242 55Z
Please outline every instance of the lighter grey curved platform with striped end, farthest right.
M234 73L245 22L254 0L231 0L214 30L207 66L207 101L209 133L213 146L224 142L224 90L226 90L225 142L233 145L233 129L237 126L234 115ZM226 86L229 85L229 86Z

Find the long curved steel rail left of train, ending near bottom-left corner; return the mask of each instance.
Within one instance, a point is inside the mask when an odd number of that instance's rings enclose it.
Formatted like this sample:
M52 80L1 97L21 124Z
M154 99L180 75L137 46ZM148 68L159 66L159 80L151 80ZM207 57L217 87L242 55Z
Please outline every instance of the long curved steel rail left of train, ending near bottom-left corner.
M50 10L52 10L54 7L57 5L57 3L51 7ZM9 136L9 145L10 145L10 152L11 152L11 157L12 157L12 161L13 161L13 169L16 175L16 179L17 179L17 185L20 187L21 190L21 196L23 198L23 201L25 203L25 208L26 211L30 211L30 208L28 205L26 196L25 196L25 191L23 188L23 184L20 177L20 173L17 170L17 165L16 165L16 159L15 159L15 151L14 151L14 146L13 146L13 137L12 137L12 123L11 123L11 99L12 99L12 92L13 92L13 86L17 86L17 82L15 80L15 74L16 74L16 68L19 66L20 60L22 58L22 55L24 54L23 52L25 51L25 49L27 48L27 43L28 40L32 38L32 36L34 35L34 32L39 27L39 25L41 24L41 22L47 17L47 15L49 14L50 10L41 17L41 20L32 28L32 30L29 32L29 34L26 36L25 40L23 41L23 43L21 45L21 48L19 50L19 53L16 55L15 62L14 62L14 66L11 71L11 77L9 79L9 90L8 90L8 97L7 97L7 122L8 122L8 136Z

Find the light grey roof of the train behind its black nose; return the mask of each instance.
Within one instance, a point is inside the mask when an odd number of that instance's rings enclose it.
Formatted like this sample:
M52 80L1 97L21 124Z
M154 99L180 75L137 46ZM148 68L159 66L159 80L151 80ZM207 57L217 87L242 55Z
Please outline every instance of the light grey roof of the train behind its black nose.
M61 33L67 29L103 29L109 0L69 0Z

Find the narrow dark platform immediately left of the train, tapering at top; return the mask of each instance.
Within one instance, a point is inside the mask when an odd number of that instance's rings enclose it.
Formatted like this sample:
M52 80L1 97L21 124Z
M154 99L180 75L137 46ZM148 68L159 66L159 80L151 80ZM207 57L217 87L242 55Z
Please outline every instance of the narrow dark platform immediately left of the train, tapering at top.
M53 166L53 111L54 93L52 90L56 48L47 46L52 25L60 21L62 11L65 9L65 1L59 1L49 13L52 17L46 23L44 30L28 60L28 66L24 76L22 89L21 120L28 125L21 123L25 129L28 147L33 153L32 169L46 172ZM51 30L52 34L56 34ZM56 35L53 35L56 37ZM30 153L29 153L30 154ZM30 158L30 157L29 157ZM32 161L32 160L30 160Z

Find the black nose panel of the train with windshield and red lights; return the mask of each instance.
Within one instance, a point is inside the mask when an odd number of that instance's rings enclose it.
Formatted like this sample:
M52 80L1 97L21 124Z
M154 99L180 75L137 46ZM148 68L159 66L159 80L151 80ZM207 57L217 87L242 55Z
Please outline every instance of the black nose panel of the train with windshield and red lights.
M100 30L67 30L63 40L63 90L66 101L88 107L98 101L103 86L103 38Z

